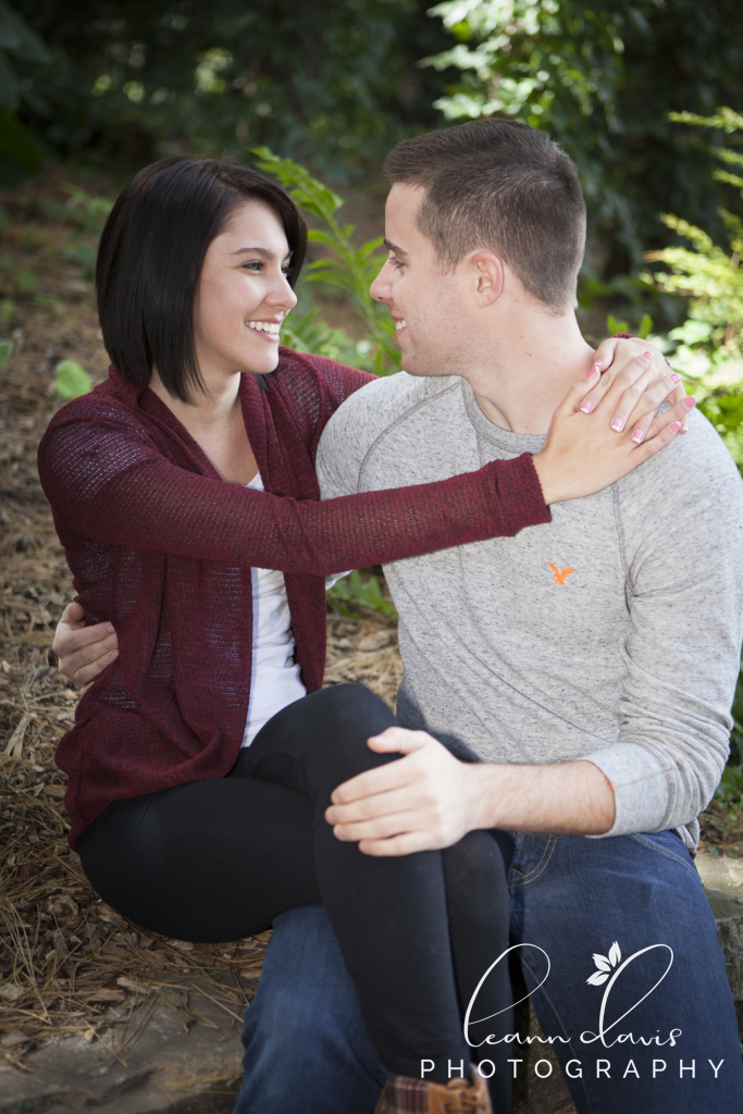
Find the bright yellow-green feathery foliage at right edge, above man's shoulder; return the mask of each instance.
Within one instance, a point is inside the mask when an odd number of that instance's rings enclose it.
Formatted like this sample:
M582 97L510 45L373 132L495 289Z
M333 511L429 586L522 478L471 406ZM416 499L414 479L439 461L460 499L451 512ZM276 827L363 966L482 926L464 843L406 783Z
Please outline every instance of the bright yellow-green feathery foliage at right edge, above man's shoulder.
M710 127L724 136L743 136L743 116L721 108L712 117L674 113L676 121ZM743 165L743 155L729 146L714 148L726 166ZM743 198L743 178L727 170L715 176L737 188ZM702 228L672 214L663 221L690 247L666 247L646 253L648 263L662 263L667 271L645 276L664 292L690 296L690 316L665 339L668 359L686 380L701 402L701 409L715 426L739 467L743 469L743 221L739 213L721 209L727 231L729 247L713 243Z

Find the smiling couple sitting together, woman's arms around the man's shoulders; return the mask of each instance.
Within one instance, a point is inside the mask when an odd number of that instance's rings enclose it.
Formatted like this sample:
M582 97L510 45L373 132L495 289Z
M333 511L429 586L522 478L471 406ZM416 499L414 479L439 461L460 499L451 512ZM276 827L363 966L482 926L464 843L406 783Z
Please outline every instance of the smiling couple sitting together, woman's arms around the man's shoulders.
M274 183L168 158L114 206L109 378L39 450L79 600L55 648L92 681L71 846L144 929L273 925L238 1114L505 1114L509 959L579 1114L739 1111L692 857L741 479L658 352L580 335L585 204L544 133L473 121L385 172L389 379L278 348L306 229ZM321 688L325 578L375 563L397 717Z

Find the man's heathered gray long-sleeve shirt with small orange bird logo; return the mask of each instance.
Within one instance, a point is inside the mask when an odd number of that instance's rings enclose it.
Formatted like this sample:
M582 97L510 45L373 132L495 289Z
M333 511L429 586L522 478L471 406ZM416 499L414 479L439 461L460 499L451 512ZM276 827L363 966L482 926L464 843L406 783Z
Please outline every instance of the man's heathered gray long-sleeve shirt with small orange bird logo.
M469 384L404 372L353 394L317 455L323 498L422 483L538 452ZM398 716L485 762L587 759L616 800L606 834L686 829L729 750L743 636L743 483L698 413L597 495L514 538L385 566L400 614Z

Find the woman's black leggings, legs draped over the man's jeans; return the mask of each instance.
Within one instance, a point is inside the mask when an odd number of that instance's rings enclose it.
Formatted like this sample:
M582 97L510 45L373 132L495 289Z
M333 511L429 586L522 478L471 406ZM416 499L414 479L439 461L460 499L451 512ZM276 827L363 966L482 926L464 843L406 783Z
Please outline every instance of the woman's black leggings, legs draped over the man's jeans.
M508 891L487 832L389 859L333 836L332 790L398 756L366 745L395 722L362 685L305 696L265 724L227 778L110 804L84 834L80 859L115 909L182 940L241 939L286 909L323 902L388 1071L419 1076L428 1058L436 1068L426 1077L446 1082L448 1061L467 1073L481 1058L460 1015L508 947ZM505 968L478 996L473 1017L505 1009L476 1029L480 1039L512 1032ZM504 1107L507 1047L481 1049L497 1065Z

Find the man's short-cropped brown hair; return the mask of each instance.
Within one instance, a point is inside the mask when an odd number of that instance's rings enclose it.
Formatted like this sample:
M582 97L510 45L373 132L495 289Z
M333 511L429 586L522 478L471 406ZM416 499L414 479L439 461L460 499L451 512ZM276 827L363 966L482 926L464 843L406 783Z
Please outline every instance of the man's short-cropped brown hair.
M459 124L404 139L384 173L424 187L418 226L444 268L490 248L534 297L560 312L575 305L586 203L575 166L544 131L495 118Z

